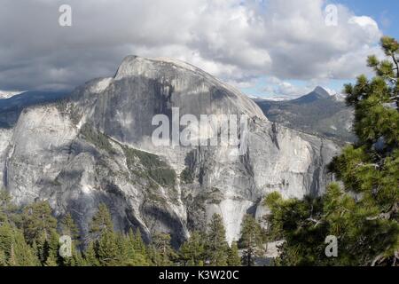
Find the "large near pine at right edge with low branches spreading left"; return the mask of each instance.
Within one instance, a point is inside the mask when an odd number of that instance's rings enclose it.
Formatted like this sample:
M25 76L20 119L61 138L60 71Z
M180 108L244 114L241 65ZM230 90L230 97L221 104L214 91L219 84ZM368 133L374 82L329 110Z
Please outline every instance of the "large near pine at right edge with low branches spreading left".
M399 264L399 43L384 36L381 48L387 59L367 60L376 76L345 85L358 141L330 166L343 186L330 185L322 199L267 201L270 224L286 239L282 264ZM328 235L338 257L325 256Z

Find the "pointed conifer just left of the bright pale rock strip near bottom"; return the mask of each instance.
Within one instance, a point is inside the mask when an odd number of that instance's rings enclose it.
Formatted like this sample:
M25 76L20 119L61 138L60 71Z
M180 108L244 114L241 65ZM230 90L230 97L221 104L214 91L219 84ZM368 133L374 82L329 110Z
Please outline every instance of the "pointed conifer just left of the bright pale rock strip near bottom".
M220 215L214 214L207 228L206 255L210 265L226 266L229 244L226 241L226 230Z

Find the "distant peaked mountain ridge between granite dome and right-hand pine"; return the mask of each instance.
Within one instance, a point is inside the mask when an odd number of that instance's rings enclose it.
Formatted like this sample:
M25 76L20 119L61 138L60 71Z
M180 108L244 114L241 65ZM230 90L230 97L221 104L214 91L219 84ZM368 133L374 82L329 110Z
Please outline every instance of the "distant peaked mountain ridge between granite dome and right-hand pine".
M340 142L354 142L351 131L353 109L343 96L331 95L322 87L292 100L254 99L271 122Z

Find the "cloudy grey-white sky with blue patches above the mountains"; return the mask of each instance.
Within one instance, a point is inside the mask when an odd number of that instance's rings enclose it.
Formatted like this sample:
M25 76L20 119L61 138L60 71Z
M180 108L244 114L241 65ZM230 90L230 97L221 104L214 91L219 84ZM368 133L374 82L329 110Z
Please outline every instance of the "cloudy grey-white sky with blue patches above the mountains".
M365 59L383 56L380 36L399 38L398 13L395 0L0 0L0 90L72 90L134 54L187 61L256 97L340 92L372 75Z

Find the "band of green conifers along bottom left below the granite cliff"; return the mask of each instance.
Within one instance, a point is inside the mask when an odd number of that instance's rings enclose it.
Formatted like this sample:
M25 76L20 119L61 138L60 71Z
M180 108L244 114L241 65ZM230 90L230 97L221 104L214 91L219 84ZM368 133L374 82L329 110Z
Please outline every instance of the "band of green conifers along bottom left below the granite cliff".
M222 217L215 215L207 232L192 232L176 251L167 233L153 233L146 245L140 231L115 232L113 218L105 203L90 223L89 239L79 248L81 236L74 219L66 214L52 216L47 201L37 201L19 209L8 194L0 192L0 266L146 266L146 265L239 265L239 248L229 248ZM17 220L17 222L9 221ZM72 239L72 256L59 255L59 237Z

